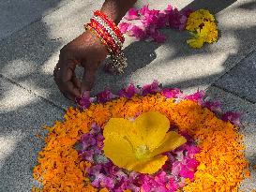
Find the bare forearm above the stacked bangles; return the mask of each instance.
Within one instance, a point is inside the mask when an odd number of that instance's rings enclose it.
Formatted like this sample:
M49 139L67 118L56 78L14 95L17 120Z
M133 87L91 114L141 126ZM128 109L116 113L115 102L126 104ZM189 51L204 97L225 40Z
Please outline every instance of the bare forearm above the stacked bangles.
M137 0L105 0L101 10L117 24L136 1Z

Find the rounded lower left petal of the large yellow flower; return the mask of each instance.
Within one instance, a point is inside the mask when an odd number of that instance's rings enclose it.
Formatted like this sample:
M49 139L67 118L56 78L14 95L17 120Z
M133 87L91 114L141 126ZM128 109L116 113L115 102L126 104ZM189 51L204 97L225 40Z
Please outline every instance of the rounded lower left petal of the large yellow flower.
M137 161L129 141L117 134L104 140L103 151L120 168L126 169Z

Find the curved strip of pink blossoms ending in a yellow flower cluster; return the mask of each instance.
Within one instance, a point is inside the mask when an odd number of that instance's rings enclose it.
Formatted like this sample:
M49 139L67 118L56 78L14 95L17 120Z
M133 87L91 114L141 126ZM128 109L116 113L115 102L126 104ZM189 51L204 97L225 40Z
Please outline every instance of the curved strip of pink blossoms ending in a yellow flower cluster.
M179 11L171 5L164 10L150 9L148 5L140 9L131 8L125 17L131 22L121 22L122 33L138 40L154 40L162 43L166 37L159 32L164 27L185 29L191 34L187 43L191 48L198 49L204 42L213 43L218 40L218 27L214 16L205 9ZM135 23L133 23L135 22Z

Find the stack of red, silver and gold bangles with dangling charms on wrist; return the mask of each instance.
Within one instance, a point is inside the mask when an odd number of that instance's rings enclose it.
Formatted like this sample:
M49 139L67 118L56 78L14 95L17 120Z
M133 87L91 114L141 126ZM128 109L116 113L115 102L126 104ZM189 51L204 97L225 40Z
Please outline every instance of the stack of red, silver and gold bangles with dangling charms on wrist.
M84 27L94 33L110 53L111 63L106 65L107 69L112 72L124 73L124 68L128 66L127 58L122 51L125 37L116 24L102 11L97 10L91 21Z

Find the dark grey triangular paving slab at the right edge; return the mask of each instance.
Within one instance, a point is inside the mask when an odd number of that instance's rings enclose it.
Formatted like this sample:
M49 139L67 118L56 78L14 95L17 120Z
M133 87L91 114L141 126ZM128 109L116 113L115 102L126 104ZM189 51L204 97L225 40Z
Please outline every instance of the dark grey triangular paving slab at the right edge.
M251 52L247 58L218 79L215 84L256 103L256 51Z

